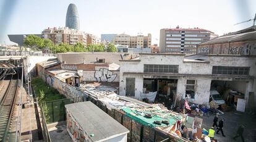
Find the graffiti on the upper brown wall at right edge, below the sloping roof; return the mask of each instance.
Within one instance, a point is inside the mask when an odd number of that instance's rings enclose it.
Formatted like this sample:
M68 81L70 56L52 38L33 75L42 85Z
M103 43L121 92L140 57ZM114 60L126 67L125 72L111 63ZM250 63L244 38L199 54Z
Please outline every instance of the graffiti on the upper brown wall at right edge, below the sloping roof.
M239 54L239 55L254 55L256 53L256 44L246 43L244 46L236 46L229 48L229 54Z

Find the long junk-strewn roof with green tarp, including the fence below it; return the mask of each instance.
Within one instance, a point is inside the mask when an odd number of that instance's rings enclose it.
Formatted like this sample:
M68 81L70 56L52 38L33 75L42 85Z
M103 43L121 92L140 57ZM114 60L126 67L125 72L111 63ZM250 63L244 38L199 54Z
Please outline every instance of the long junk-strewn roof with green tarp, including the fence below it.
M130 130L127 141L209 141L202 119L168 110L162 104L148 104L119 96L116 88L82 85L88 101Z

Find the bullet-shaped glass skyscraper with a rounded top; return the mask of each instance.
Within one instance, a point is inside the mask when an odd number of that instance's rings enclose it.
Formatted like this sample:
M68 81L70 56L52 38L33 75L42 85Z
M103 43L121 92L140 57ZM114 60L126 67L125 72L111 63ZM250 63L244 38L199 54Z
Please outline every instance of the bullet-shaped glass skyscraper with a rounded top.
M79 14L75 4L69 4L69 7L67 8L66 27L75 30L79 30L80 28Z

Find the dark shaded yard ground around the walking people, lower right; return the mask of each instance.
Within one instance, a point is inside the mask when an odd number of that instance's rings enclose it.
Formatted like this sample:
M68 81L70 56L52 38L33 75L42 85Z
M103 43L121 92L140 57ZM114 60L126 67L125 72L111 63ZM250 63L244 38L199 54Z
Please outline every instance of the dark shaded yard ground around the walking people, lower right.
M213 125L213 118L215 115L203 116L200 117L203 119L203 125L202 128L209 129ZM225 119L223 132L226 137L223 137L220 134L216 134L216 127L215 127L215 138L220 141L242 141L241 138L236 138L236 140L233 140L233 137L236 135L237 128L244 124L245 130L244 130L244 140L248 142L256 142L256 115L252 114L244 114L237 111L230 111L230 112L224 112L223 115L220 115L219 120L221 118Z

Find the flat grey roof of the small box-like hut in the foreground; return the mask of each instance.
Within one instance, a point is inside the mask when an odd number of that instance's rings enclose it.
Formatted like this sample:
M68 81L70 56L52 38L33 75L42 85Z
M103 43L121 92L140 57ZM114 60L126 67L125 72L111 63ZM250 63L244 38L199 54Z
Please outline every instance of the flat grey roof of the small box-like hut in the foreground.
M90 136L93 141L106 141L111 136L114 138L129 133L126 127L90 101L67 104L65 107L88 135L94 135Z

